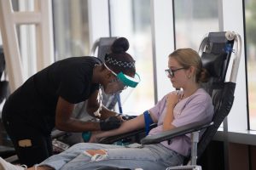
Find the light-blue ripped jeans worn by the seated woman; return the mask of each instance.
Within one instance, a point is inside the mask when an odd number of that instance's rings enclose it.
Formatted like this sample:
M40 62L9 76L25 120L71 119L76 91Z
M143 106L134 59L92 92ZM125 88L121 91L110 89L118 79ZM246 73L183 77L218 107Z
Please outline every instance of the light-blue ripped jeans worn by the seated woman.
M90 155L88 150L101 150L101 154ZM166 169L183 164L183 156L162 144L140 144L120 146L113 144L74 144L61 154L50 156L39 165L54 167L55 170L96 169L98 167Z

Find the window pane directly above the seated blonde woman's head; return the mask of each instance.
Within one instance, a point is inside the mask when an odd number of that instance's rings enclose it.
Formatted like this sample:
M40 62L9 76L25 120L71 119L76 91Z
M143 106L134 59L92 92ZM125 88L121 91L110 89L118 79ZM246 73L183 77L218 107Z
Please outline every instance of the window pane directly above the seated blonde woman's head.
M176 48L199 49L202 38L218 31L218 1L174 0Z

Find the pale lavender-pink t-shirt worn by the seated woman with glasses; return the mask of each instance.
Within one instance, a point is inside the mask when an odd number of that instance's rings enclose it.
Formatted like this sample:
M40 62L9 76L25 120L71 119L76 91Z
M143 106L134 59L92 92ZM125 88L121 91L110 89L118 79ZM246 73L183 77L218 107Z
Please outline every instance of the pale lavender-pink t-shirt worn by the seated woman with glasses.
M162 132L163 121L166 116L166 96L149 110L151 116L158 120L158 122L157 127L151 129L148 135ZM199 88L194 94L188 98L181 99L177 103L173 109L173 116L172 125L175 127L180 127L191 122L209 122L213 116L212 99L203 88ZM201 131L200 136L202 133ZM175 150L183 156L189 156L190 154L190 134L172 139L171 144L168 144L168 141L163 141L160 144L171 150Z

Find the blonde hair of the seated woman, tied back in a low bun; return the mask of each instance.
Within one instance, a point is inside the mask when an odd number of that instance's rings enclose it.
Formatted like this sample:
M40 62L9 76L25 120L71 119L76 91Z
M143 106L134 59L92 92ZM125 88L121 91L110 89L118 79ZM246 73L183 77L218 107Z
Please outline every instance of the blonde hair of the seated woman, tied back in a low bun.
M192 48L179 48L169 54L169 58L176 59L184 68L189 69L195 66L195 82L207 82L209 74L206 69L202 68L199 54Z

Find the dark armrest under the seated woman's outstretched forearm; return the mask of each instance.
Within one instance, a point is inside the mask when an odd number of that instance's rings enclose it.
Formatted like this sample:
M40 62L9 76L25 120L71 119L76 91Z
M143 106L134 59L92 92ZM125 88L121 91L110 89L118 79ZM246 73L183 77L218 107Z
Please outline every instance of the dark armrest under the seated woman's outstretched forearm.
M156 123L151 124L149 128L151 129L154 127L156 127ZM123 134L107 137L107 138L101 139L99 141L99 143L100 144L113 144L114 142L119 141L121 139L131 138L131 137L136 136L137 134L141 134L141 133L145 133L145 128L131 131L129 133L123 133Z

